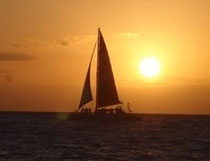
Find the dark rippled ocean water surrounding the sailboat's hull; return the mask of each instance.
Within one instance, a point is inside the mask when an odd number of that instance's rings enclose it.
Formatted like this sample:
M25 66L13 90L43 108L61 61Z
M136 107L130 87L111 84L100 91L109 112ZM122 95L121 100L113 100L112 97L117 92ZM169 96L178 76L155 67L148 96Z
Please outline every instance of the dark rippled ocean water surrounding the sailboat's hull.
M0 113L0 161L210 161L210 116L70 121L61 113Z

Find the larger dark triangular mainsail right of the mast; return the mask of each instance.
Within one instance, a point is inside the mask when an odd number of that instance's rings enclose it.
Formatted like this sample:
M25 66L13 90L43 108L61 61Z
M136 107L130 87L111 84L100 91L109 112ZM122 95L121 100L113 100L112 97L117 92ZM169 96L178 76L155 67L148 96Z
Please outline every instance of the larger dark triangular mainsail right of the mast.
M108 51L100 29L98 30L97 56L96 110L100 107L121 103L118 98Z

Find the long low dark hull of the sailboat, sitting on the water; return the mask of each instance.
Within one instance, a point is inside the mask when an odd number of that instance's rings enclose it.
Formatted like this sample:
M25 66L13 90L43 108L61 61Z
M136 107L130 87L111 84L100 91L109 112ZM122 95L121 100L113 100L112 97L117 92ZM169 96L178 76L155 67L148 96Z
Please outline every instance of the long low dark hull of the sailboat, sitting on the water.
M122 114L96 114L96 113L71 113L69 120L95 120L95 121L140 121L142 120L139 114L122 113Z

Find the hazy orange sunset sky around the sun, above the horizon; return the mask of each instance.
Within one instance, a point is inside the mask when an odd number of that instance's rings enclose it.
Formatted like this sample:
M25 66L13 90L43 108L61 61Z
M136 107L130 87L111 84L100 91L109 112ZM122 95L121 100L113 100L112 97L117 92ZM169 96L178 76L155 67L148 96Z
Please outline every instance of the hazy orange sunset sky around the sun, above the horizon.
M100 27L134 112L210 114L209 15L209 0L0 0L0 110L77 109Z

